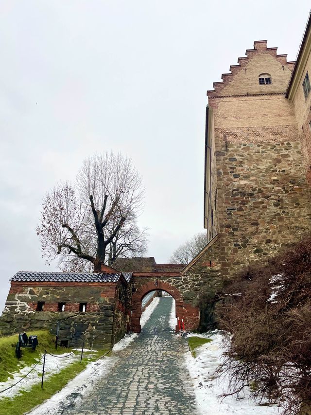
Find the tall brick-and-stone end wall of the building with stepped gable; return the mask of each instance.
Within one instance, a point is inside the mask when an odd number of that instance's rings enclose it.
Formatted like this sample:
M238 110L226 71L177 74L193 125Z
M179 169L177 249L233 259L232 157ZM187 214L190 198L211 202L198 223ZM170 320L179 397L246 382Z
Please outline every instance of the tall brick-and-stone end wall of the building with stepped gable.
M213 109L219 234L185 269L205 281L199 297L202 328L222 287L252 261L266 261L310 230L311 203L294 105L286 97L293 63L266 41L230 67L207 91ZM259 85L269 73L271 85ZM212 128L209 125L208 128ZM195 304L193 298L193 304Z

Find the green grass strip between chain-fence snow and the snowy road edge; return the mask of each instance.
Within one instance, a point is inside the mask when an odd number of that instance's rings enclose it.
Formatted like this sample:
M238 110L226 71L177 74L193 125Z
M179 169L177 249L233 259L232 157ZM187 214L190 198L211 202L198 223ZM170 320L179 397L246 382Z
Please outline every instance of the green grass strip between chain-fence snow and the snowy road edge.
M59 392L71 379L86 368L87 363L97 360L107 352L108 350L95 352L92 358L83 358L82 364L80 364L80 361L71 363L59 373L55 373L44 380L43 389L41 389L41 382L39 382L28 391L21 391L21 395L0 399L0 415L21 415L29 412L35 406L40 405Z

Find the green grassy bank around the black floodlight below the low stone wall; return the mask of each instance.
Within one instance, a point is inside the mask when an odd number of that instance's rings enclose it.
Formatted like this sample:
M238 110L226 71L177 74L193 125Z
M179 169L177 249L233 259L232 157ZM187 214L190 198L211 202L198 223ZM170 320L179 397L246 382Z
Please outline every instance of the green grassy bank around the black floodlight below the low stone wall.
M7 337L0 337L0 382L13 378L12 374L17 373L24 366L33 366L42 356L44 350L53 354L64 353L63 348L55 350L55 337L46 330L31 331L28 335L37 335L38 342L35 351L32 348L22 348L22 356L17 359L15 355L15 347L18 341L18 334ZM69 350L69 349L66 349Z

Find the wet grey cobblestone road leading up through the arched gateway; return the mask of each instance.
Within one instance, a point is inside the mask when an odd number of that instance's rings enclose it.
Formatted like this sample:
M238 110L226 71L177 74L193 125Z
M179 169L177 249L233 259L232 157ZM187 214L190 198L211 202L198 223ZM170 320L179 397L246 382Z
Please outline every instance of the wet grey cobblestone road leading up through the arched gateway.
M161 298L142 332L110 373L84 398L75 415L195 415L195 400L182 353L185 339L169 327L172 298Z

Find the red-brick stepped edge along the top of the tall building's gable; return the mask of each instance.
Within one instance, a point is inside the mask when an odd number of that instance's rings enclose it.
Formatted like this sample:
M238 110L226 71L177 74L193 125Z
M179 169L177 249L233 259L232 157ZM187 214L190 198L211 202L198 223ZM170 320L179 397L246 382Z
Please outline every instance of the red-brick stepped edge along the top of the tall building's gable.
M280 65L284 68L288 68L291 71L294 68L294 61L287 61L287 54L277 54L277 48L267 48L267 40L255 40L253 49L246 49L246 56L238 58L238 65L231 65L229 73L222 74L222 81L213 83L213 90L207 90L208 98L224 96L222 91L224 88L229 85L229 83L234 79L234 75L240 72L241 70L246 71L246 66L250 62L251 58L258 54L270 54L272 57L279 62Z

